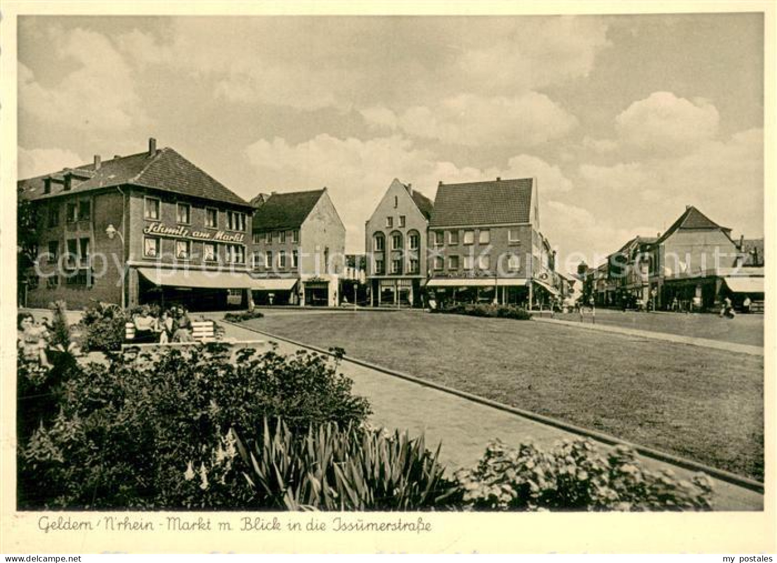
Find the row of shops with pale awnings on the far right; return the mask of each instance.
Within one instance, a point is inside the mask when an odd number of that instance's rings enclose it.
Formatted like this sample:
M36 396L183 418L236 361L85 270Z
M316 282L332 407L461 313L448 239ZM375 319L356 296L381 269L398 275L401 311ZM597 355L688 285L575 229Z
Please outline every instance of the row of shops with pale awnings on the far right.
M764 239L731 238L731 229L688 206L663 234L637 236L591 268L581 263L582 299L599 307L718 310L730 298L763 311Z

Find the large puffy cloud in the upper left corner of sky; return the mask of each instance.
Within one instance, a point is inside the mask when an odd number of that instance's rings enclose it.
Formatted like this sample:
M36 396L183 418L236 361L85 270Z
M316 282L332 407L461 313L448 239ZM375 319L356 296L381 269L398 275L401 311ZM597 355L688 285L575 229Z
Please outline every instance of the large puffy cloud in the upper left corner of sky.
M41 122L72 130L116 132L145 121L131 67L102 33L50 30L52 53L74 71L53 85L19 64L19 107Z

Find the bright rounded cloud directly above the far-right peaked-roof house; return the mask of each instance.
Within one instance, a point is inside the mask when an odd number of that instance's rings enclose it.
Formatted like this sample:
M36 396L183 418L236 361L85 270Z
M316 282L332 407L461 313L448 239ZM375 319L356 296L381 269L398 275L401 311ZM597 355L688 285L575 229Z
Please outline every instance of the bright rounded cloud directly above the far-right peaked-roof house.
M653 92L618 115L615 129L623 141L637 148L672 154L713 138L719 121L718 110L709 100Z

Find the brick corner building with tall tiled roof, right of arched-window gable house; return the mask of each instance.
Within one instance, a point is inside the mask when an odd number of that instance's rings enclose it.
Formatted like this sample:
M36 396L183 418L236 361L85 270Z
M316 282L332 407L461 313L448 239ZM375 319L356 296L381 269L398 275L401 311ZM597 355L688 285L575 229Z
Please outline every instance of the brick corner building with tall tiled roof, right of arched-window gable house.
M536 179L440 182L429 222L437 301L542 305L560 297L555 254L539 227Z

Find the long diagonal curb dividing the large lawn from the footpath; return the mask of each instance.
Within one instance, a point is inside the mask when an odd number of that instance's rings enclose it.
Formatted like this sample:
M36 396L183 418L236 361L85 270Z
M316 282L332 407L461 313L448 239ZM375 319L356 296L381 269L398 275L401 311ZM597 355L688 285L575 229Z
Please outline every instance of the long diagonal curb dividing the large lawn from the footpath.
M238 325L236 323L228 322L228 321L222 321L222 322L228 325L233 325L237 328L244 328L252 332L257 332L271 339L288 342L289 344L293 344L294 346L301 346L302 348L312 349L315 352L322 353L326 356L332 356L332 353L330 353L329 350L324 350L317 346L310 346L309 344L303 344L302 342L297 342L295 340L287 339L287 338L284 338L283 336L277 336L270 332L265 332L263 330L260 330L258 328L249 328L247 326ZM761 495L764 493L764 484L761 481L755 481L754 479L751 479L751 478L742 477L740 475L730 473L729 471L723 471L722 469L717 469L716 467L709 467L708 465L701 464L697 461L688 460L688 459L685 459L684 457L678 457L673 454L667 454L660 450L653 450L653 448L650 448L650 447L639 446L638 444L627 442L626 440L621 440L620 438L616 438L615 436L610 436L609 434L597 432L596 430L589 430L586 428L582 428L580 426L575 426L573 424L570 424L569 422L563 422L558 419L553 419L549 416L538 415L535 412L525 411L522 408L516 408L516 407L511 407L510 405L504 405L503 403L492 401L487 398L479 397L478 395L468 393L467 391L459 391L458 389L454 389L446 385L441 385L441 384L435 383L434 381L426 381L410 374L404 374L400 371L389 370L389 369L386 369L385 367L377 366L374 363L369 363L364 360L359 360L358 358L353 358L351 356L343 356L343 360L350 363L355 363L357 364L357 366L367 367L371 370L379 371L382 374L391 375L393 377L399 377L400 379L404 379L406 381L412 381L413 383L423 385L424 387L431 387L432 389L437 389L437 391L443 391L444 393L453 394L458 397L465 398L469 401L479 403L481 405L497 408L497 410L500 410L503 412L509 412L510 414L521 416L524 419L534 420L535 422L542 422L543 424L546 424L548 426L553 426L555 428L565 430L566 432L579 434L580 436L587 436L589 438L593 438L598 442L605 443L608 446L618 446L618 445L627 446L635 450L638 454L643 455L644 457L650 457L654 460L659 460L670 464L674 464L674 465L677 465L678 467L682 467L683 469L688 469L690 471L702 471L703 473L706 473L710 477L714 477L719 481L725 481L726 483L730 483L731 485L737 485L742 488L747 488L751 491L761 493Z

